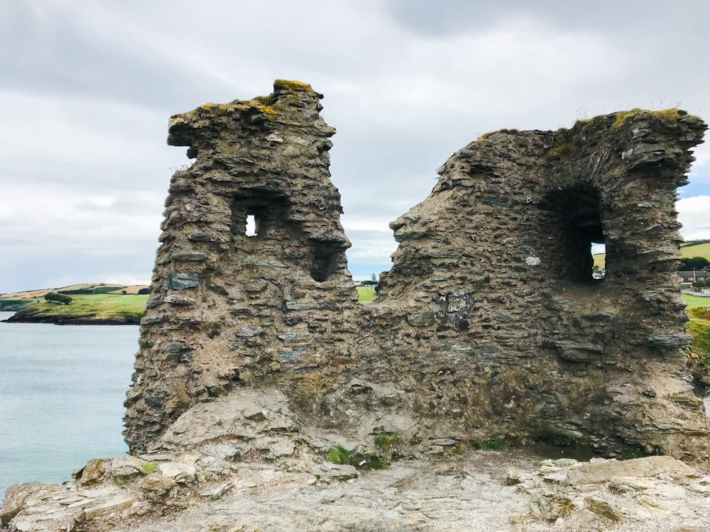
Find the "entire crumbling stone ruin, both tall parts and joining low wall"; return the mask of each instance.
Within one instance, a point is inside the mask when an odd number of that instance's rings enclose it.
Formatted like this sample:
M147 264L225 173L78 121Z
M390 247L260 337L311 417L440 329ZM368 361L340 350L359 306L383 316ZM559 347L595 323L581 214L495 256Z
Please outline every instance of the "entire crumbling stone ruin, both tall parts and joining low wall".
M396 433L416 455L506 436L707 460L674 211L703 121L633 110L484 135L391 224L393 267L365 306L321 98L277 80L269 96L173 116L168 143L196 160L165 204L131 450L239 396L260 398L244 414L255 423L288 409L297 423L271 434L316 448ZM591 243L606 244L603 279ZM221 440L249 439L213 421Z

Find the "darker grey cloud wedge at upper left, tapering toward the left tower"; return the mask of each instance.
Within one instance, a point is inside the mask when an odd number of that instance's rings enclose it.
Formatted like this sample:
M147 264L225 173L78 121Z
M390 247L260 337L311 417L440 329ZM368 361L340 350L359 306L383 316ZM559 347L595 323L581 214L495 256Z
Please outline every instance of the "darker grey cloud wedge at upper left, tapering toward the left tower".
M197 100L204 83L189 65L166 64L122 40L102 38L71 11L49 2L9 2L0 19L0 87L36 94L71 94L173 109ZM198 81L200 80L200 81Z

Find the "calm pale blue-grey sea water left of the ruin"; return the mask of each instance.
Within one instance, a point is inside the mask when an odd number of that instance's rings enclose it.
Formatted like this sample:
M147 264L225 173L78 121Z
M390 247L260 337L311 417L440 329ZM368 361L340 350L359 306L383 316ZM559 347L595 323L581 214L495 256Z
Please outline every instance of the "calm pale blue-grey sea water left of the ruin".
M0 312L0 320L11 312ZM0 499L126 453L123 401L137 326L0 323Z

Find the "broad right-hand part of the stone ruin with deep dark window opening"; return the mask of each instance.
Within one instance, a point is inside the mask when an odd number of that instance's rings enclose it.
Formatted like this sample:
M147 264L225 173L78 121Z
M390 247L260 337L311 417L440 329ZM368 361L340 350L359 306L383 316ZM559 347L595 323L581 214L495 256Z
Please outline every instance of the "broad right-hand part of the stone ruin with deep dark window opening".
M430 366L420 397L448 433L704 452L690 442L706 438L703 406L679 376L689 336L674 211L704 128L638 111L484 135L391 223L400 245L381 305L416 301L406 323L391 313L404 325L395 342L414 326L414 363ZM603 280L592 242L606 243Z

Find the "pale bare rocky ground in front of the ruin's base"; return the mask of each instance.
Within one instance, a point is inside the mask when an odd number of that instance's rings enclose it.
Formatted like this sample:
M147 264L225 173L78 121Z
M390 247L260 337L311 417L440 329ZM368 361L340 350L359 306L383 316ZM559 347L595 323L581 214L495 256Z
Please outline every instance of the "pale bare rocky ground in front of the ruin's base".
M710 476L679 460L540 460L479 451L362 471L312 455L92 460L63 485L11 487L21 532L710 531Z

